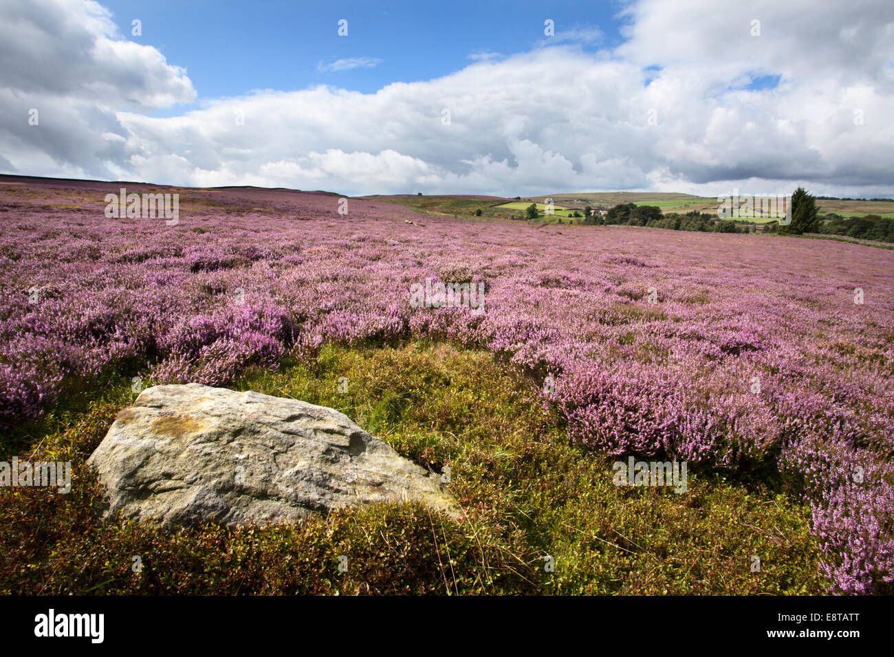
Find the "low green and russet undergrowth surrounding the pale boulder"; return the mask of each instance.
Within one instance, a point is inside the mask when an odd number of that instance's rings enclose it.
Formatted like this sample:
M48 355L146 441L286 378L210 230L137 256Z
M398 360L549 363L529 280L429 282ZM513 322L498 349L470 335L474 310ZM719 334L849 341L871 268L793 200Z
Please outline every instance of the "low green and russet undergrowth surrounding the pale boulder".
M0 490L0 593L822 592L809 511L795 499L721 472L690 471L682 495L615 487L611 461L569 446L556 413L484 351L328 346L232 387L340 409L423 467L451 467L468 519L380 505L269 528L102 525L101 492L80 464L133 397L122 379L86 390L89 402L41 425L45 434L32 427L32 459L74 461L72 493Z

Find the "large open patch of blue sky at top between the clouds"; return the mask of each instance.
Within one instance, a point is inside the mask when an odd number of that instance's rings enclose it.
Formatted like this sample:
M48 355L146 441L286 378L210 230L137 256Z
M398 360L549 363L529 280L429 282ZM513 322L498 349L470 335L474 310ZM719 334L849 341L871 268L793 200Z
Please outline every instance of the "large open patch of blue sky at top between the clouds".
M623 19L614 2L238 2L235 0L111 0L122 34L142 21L138 42L156 47L187 69L201 98L232 97L252 89L293 91L318 84L374 93L392 82L431 80L455 72L480 53L523 53L544 41L544 21L563 33L590 31L597 50L620 42ZM176 16L176 20L172 20ZM339 37L338 21L348 21ZM602 37L595 38L596 32ZM320 71L342 59L375 66ZM170 116L182 106L159 110Z

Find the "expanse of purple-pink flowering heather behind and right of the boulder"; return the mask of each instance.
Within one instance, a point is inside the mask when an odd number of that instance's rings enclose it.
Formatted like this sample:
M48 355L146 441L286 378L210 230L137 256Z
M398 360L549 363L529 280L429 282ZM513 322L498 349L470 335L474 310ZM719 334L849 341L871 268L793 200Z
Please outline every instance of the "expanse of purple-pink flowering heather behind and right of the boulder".
M458 341L538 387L552 375L544 403L583 448L779 468L838 591L894 581L891 251L358 199L342 216L336 197L275 190L181 194L167 226L106 218L106 187L3 192L18 204L0 219L6 425L72 378L148 366L154 383L224 384L327 342ZM443 277L486 281L485 311L411 307L411 284Z

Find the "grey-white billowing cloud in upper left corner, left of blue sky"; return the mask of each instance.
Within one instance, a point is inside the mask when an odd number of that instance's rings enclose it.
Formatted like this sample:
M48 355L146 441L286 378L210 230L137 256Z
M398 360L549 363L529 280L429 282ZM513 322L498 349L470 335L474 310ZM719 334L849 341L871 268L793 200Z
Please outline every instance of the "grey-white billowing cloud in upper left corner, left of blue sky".
M0 4L0 61L5 172L114 177L130 137L117 112L196 96L182 68L122 38L95 2Z

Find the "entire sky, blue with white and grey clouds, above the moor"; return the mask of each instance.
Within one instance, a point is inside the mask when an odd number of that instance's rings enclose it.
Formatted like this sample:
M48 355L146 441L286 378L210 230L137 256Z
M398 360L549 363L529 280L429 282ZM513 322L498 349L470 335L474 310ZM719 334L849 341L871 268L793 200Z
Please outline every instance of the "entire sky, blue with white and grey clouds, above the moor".
M894 197L890 0L3 0L0 63L0 173Z

